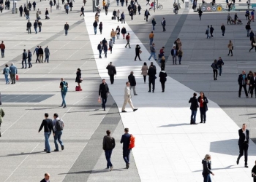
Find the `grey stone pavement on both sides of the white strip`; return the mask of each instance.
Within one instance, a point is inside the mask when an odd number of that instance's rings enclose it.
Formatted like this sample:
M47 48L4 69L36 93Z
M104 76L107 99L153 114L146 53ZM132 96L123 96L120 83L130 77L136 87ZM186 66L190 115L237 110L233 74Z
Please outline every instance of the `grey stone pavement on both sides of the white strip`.
M24 2L18 1L18 7ZM143 3L142 12L148 8ZM127 23L149 50L148 34L151 31L151 19L154 17L157 20L154 42L157 50L162 46L166 47L166 55L170 54L173 41L180 37L184 50L182 64L173 66L171 58L168 58L167 74L197 92L205 92L239 126L246 122L251 130L251 138L255 138L255 98L246 99L244 92L238 98L238 74L242 70L254 71L255 68L256 52L249 52L250 41L246 37L244 24L226 25L227 12L204 12L201 21L198 20L197 13L184 8L181 8L178 15L173 15L172 3L165 0L161 4L164 9L151 11L148 23L143 20L143 15L135 15L134 20L129 20L127 15ZM35 34L31 28L31 35L26 32L25 17L12 15L10 11L4 11L0 15L0 39L4 40L7 47L5 58L0 59L1 68L4 68L5 63L13 62L20 75L20 80L15 85L6 85L4 76L0 79L0 91L4 101L2 108L6 113L1 124L0 181L39 181L44 173L50 173L51 181L140 181L134 162L129 170L124 169L119 143L124 127L113 98L109 96L108 109L105 112L97 103L101 79L94 62L86 25L83 18L79 17L82 5L82 2L76 1L69 15L65 14L62 5L61 10L53 7L50 20L44 20L41 15L42 33ZM37 8L42 10L42 14L46 7L50 8L49 1L37 1ZM112 13L113 8L117 9L112 2L109 13ZM126 7L120 9L127 12ZM86 12L90 11L91 1L88 1ZM161 26L163 16L167 20L165 33L162 33ZM33 10L30 17L33 22ZM244 12L238 12L238 17L246 23ZM68 36L64 36L66 21L70 26ZM222 23L226 25L225 38L221 36ZM214 26L214 39L206 39L207 25ZM252 29L255 29L254 23ZM230 39L235 47L233 57L227 56L227 43ZM37 45L49 46L50 63L36 64L33 56L33 67L20 69L23 49L34 51ZM219 56L224 60L225 66L222 76L214 81L210 66ZM77 68L82 70L82 92L75 92ZM69 82L67 108L59 108L61 77ZM51 154L42 152L43 131L38 133L38 129L45 112L50 116L58 113L64 119L64 151ZM104 170L106 162L102 151L102 138L108 129L116 138L112 172ZM53 150L52 135L50 146Z

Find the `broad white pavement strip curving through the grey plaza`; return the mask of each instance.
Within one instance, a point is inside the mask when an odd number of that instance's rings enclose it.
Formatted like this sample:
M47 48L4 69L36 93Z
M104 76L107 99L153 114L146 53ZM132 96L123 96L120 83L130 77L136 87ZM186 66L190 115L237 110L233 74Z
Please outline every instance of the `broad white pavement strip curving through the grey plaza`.
M133 112L127 105L127 113L121 114L121 119L124 127L129 127L136 137L132 152L141 181L202 181L201 160L208 153L212 156L213 181L252 181L250 171L255 159L252 151L256 146L252 142L249 144L250 168L244 168L244 157L240 165L236 165L239 127L216 103L209 100L206 124L190 125L188 100L195 91L168 76L164 93L159 79L156 79L155 92L148 93L148 84L143 84L140 68L145 60L150 63L149 53L129 25L125 24L125 27L131 34L132 49L124 48L126 41L118 39L113 54L108 51L108 58L102 56L99 59L99 41L104 37L109 41L111 29L116 29L117 25L122 27L121 23L111 20L110 15L102 14L99 20L104 23L102 35L94 35L93 13L86 13L85 21L99 75L108 78L106 66L110 61L116 66L117 75L110 90L119 111L124 101L127 76L130 71L135 72L138 96L132 96L132 102L138 111ZM140 44L143 52L141 62L134 61L136 44ZM157 66L157 74L159 69ZM198 116L197 122L200 120Z

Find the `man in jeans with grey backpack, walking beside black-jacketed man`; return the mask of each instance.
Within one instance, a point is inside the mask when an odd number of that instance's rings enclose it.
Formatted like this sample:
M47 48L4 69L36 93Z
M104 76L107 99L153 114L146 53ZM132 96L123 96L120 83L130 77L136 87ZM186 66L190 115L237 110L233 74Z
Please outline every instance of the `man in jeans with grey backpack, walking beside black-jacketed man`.
M54 130L54 144L55 144L55 149L54 151L59 151L59 145L57 143L57 140L59 141L59 144L61 145L61 151L64 150L64 143L61 141L61 135L63 133L63 128L64 128L64 121L59 118L58 114L53 114L53 130Z

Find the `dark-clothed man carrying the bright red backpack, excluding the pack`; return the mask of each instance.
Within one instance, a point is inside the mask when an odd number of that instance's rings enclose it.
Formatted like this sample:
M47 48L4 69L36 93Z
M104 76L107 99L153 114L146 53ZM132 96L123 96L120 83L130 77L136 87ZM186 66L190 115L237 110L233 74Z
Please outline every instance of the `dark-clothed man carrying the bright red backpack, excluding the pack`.
M129 128L124 128L124 135L121 136L120 143L123 143L123 158L127 165L127 169L129 168L129 153L131 151L131 149L129 149L130 138L131 135L129 134Z

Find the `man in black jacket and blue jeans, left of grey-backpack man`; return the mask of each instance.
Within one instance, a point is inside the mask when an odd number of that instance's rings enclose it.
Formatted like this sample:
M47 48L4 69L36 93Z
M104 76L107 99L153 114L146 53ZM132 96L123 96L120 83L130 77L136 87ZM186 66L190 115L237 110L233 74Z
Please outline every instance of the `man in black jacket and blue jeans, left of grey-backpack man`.
M50 134L53 131L54 135L54 130L53 130L53 121L51 119L48 119L49 114L45 113L45 119L42 120L42 124L39 127L38 132L42 130L42 127L44 127L44 132L45 132L45 149L46 153L50 153L50 143L49 143L49 138Z

